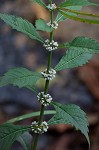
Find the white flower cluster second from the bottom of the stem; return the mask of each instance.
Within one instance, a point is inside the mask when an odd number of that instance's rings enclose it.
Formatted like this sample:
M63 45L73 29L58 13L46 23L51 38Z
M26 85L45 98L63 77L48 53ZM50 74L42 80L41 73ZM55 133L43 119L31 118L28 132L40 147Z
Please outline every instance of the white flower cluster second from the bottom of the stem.
M44 92L39 92L37 95L37 98L38 98L38 101L44 106L48 106L52 101L51 95L44 94Z

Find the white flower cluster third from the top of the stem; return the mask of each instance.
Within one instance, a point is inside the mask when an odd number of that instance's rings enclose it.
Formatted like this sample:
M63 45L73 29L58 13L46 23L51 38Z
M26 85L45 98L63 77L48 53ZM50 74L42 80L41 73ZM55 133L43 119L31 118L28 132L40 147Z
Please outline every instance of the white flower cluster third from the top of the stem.
M48 51L53 51L56 50L58 48L58 43L54 42L54 40L52 42L50 42L48 39L45 40L45 43L43 45Z

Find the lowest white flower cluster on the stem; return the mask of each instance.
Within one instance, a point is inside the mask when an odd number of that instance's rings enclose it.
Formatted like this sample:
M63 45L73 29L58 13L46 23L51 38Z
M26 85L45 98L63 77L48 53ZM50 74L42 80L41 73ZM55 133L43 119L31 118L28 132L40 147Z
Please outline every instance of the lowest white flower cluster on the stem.
M34 133L42 134L44 132L47 132L48 124L46 121L43 121L41 125L39 125L38 122L34 121L32 122L31 129L32 131L34 131Z

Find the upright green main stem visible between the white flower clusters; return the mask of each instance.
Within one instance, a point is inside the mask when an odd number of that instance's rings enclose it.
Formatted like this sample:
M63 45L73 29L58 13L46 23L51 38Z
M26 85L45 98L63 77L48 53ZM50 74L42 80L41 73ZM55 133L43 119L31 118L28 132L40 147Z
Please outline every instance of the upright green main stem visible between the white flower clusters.
M52 4L52 0L50 0L50 5L51 4ZM50 16L51 16L51 23L53 23L53 11L50 12ZM50 33L50 42L52 42L52 40L53 40L53 31ZM48 53L47 73L51 68L51 62L52 62L52 51ZM44 94L48 93L48 88L49 88L49 80L46 80ZM45 109L44 105L41 105L40 117L38 121L39 125L42 123L43 120L44 109ZM33 150L36 150L37 148L38 139L39 139L39 134L36 134L34 139Z

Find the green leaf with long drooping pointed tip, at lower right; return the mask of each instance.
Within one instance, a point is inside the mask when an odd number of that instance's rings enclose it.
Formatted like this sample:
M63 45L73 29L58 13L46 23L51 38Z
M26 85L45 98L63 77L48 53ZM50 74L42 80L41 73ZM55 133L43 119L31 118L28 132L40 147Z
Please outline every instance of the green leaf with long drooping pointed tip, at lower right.
M88 136L89 124L85 112L81 110L79 106L74 104L62 105L56 102L53 102L52 104L56 109L56 114L48 121L48 124L70 124L85 135L90 145Z

